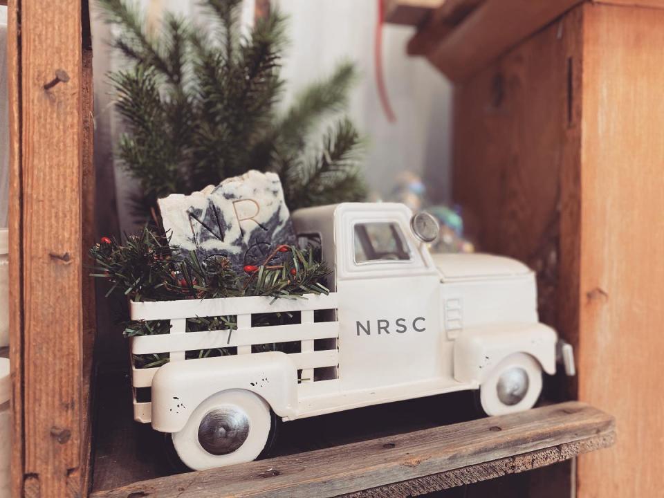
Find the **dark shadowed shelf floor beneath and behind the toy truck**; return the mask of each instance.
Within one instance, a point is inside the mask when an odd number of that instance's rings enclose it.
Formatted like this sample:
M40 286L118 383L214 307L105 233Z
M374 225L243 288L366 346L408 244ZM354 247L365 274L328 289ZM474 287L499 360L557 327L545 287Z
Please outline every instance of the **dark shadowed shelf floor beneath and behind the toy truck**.
M124 351L121 360L126 357ZM110 490L172 474L163 452L163 434L133 421L126 360L100 369L93 490ZM271 455L284 457L473 418L478 414L468 391L303 418L279 427ZM131 465L121 464L128 461Z

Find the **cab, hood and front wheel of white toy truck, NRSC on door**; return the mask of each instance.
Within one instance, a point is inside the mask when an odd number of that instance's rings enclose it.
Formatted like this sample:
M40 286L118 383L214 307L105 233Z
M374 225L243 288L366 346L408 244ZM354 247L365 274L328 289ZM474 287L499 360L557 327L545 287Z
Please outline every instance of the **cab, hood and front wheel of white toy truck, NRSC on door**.
M537 321L533 271L506 257L431 255L412 221L400 203L343 203L293 214L300 243L320 244L333 269L344 398L382 402L479 389L513 355L531 376L554 374L557 336ZM541 378L521 377L519 383L513 376L510 388L519 393L510 404L496 393L483 396L483 409L504 414L531 407Z

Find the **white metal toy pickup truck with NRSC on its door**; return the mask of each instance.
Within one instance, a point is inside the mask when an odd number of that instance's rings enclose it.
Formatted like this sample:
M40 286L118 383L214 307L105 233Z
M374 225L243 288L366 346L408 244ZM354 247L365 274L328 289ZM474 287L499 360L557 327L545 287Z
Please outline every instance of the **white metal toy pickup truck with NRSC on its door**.
M297 418L479 389L488 415L533 407L542 371L555 374L557 335L537 320L535 275L508 259L431 255L432 216L396 203L343 203L293 213L299 241L320 245L329 295L230 297L131 304L132 320L171 320L171 333L133 338L133 354L170 353L133 369L151 387L134 417L172 435L201 470L251 461L277 418ZM252 327L252 314L299 313L296 324ZM237 315L237 330L185 333L188 317ZM252 346L296 343L293 353ZM185 351L237 354L185 360ZM573 374L571 347L562 348Z

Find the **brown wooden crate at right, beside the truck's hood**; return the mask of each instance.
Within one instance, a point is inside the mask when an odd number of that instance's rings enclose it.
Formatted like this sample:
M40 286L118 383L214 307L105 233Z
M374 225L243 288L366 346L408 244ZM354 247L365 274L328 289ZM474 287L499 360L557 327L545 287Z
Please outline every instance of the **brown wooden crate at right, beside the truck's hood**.
M455 201L483 249L539 270L541 315L576 349L568 393L616 416L578 496L658 496L664 1L523 4L486 0L425 51L459 83Z

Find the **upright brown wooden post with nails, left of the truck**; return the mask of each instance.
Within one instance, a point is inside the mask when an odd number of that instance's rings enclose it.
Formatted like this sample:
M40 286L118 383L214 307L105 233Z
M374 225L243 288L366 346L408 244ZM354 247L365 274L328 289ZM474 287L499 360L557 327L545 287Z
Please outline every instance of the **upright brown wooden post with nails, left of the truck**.
M80 0L9 3L12 495L17 497L86 495L82 223L91 226L91 212L82 215L82 203L91 205L85 192L93 185L91 71L82 50L86 12ZM90 326L93 315L86 314L85 322Z

